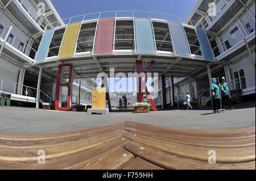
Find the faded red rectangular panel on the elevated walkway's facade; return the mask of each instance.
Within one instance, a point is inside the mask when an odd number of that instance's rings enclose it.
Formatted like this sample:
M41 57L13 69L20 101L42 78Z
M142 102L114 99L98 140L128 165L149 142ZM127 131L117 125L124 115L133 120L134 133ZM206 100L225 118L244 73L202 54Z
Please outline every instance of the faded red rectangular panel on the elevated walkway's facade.
M98 20L94 54L113 53L114 24L114 18Z

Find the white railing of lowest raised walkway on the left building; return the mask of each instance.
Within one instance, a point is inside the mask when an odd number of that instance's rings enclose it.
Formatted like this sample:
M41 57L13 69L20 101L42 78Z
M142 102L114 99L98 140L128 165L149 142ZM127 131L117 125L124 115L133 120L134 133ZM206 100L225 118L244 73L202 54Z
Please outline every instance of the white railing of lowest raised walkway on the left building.
M36 98L36 88L23 85L23 86L20 86L20 90L19 90L18 87L19 87L19 83L9 81L5 78L0 77L1 92L7 92L10 94L18 94L18 95L24 95L24 96ZM20 94L20 92L18 91L22 91L22 94Z

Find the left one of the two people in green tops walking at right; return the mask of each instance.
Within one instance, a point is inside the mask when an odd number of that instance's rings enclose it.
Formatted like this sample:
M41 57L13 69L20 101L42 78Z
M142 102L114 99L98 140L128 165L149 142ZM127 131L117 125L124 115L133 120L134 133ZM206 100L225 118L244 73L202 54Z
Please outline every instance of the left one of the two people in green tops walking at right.
M217 79L212 78L212 85L210 86L212 90L212 102L213 102L213 111L214 113L220 113L220 87L217 85Z

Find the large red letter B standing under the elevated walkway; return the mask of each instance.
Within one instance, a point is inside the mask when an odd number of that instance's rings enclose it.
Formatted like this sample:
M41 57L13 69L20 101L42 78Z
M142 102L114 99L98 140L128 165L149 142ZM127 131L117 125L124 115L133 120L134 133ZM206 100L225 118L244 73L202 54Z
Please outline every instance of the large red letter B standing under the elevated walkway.
M69 81L68 83L61 83L61 74L64 66L69 67ZM73 83L73 65L72 64L61 64L59 65L58 73L57 73L57 82L56 82L56 94L55 94L55 110L59 111L69 111L72 108L71 105L71 98L72 98L72 83ZM60 103L60 88L61 87L68 87L68 100L67 100L67 107L61 107Z

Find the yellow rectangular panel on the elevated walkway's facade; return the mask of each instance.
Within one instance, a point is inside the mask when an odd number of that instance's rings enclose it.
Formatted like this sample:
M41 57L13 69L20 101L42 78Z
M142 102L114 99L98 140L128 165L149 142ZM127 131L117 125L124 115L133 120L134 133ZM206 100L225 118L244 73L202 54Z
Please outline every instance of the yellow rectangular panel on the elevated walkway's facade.
M59 58L73 57L81 23L69 24L60 47Z

